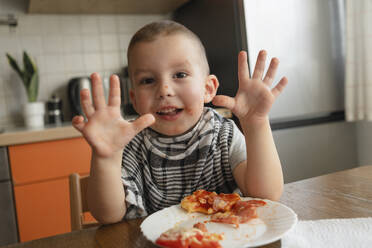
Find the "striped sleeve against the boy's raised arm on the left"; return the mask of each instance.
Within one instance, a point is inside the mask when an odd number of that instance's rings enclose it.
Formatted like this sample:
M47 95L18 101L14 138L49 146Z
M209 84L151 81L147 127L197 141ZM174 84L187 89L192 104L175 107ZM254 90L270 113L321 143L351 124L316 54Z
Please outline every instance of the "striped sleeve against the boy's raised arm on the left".
M140 171L141 160L138 160L136 149L128 144L123 152L121 179L125 191L126 214L124 219L147 216L143 199L143 178ZM137 149L138 151L138 149Z

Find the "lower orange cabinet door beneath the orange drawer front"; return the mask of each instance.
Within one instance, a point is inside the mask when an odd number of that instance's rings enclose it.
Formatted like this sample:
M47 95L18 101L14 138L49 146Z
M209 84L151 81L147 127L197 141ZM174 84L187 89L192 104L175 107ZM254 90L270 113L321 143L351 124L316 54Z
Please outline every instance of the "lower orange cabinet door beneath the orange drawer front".
M71 230L68 178L14 187L21 242Z

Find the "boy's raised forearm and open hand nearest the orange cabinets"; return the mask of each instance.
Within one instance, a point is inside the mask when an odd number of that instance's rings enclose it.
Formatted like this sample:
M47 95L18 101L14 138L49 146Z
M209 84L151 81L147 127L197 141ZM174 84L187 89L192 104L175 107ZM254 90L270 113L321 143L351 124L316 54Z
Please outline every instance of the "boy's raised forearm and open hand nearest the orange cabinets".
M120 112L120 83L110 77L110 92L106 104L102 81L92 74L92 98L82 90L81 104L88 121L75 116L73 126L80 131L92 148L87 201L92 215L101 223L120 221L126 212L125 193L121 181L121 163L124 147L142 129L154 122L146 114L134 122L125 121Z

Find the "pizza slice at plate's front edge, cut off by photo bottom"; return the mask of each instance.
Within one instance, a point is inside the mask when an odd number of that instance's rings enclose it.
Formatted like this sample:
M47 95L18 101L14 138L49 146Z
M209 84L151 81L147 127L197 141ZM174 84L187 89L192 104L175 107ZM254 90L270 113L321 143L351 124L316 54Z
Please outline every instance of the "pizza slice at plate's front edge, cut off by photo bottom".
M222 248L222 234L209 233L205 224L196 223L191 229L171 228L162 233L155 243L170 248Z

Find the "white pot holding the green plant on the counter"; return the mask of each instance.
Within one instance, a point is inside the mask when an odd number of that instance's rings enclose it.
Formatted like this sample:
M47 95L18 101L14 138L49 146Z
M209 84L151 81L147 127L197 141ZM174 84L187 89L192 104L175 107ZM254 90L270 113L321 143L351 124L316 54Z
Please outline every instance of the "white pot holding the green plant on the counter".
M29 102L23 105L23 118L27 128L44 127L44 102Z

